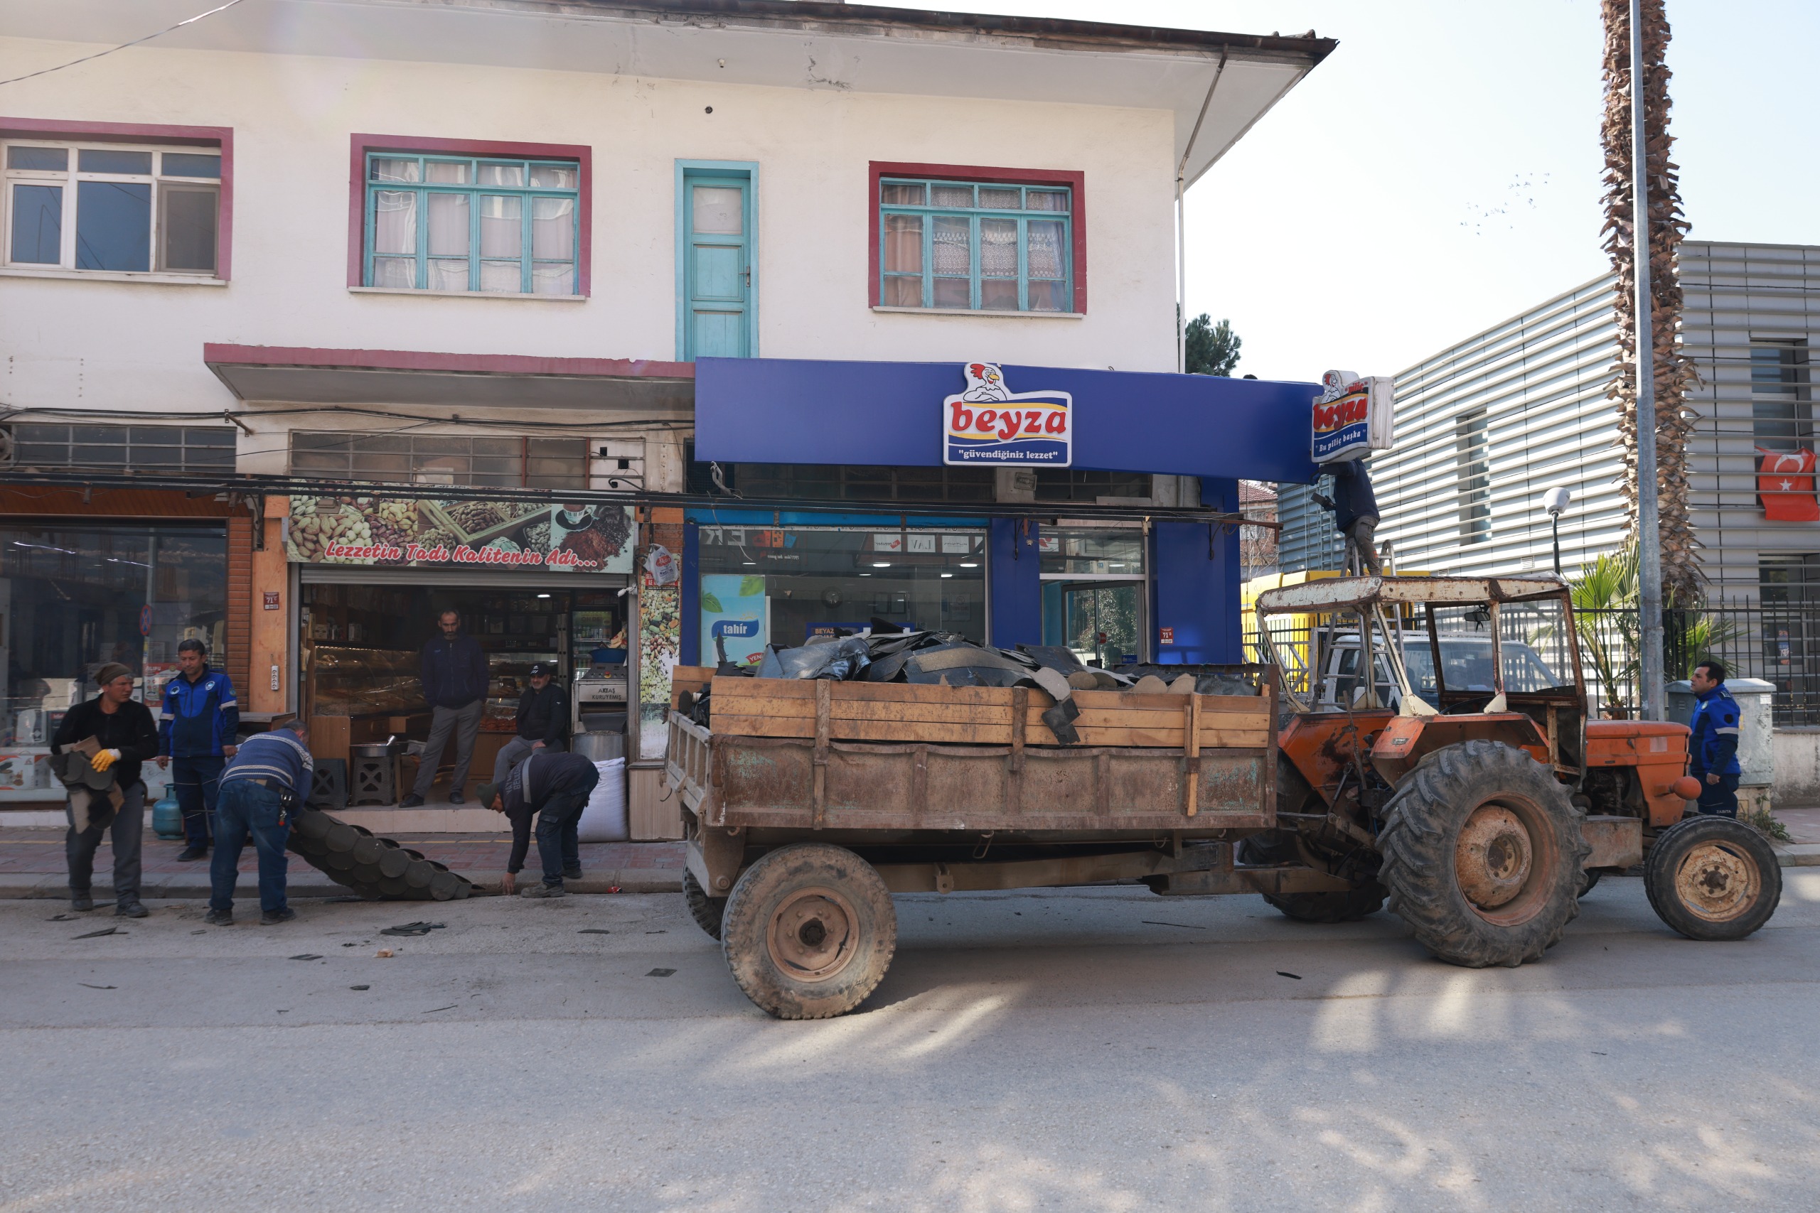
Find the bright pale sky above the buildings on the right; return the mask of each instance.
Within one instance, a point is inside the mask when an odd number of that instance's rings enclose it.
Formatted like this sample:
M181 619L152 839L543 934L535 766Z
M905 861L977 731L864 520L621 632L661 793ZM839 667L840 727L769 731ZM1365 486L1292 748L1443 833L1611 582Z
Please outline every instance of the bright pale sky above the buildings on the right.
M905 0L899 0L901 4ZM1340 47L1188 191L1238 375L1389 375L1605 271L1596 0L943 0ZM1694 238L1820 244L1815 0L1669 0Z

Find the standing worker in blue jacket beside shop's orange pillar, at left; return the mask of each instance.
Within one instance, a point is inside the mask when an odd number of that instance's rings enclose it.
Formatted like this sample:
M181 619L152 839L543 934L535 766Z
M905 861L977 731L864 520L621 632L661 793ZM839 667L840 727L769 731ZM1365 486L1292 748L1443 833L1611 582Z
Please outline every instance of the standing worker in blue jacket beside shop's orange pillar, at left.
M209 857L209 820L220 791L222 766L235 755L240 704L233 682L209 669L200 640L177 646L177 677L164 684L158 711L158 769L171 767L177 807L184 813L184 840L177 858Z

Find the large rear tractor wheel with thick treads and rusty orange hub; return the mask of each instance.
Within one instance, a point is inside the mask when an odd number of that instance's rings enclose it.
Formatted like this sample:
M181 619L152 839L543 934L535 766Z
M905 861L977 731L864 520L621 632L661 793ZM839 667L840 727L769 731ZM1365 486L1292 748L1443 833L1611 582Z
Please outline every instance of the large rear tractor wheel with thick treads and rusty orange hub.
M1540 960L1580 913L1585 811L1503 742L1447 746L1385 806L1390 911L1431 953L1481 969Z

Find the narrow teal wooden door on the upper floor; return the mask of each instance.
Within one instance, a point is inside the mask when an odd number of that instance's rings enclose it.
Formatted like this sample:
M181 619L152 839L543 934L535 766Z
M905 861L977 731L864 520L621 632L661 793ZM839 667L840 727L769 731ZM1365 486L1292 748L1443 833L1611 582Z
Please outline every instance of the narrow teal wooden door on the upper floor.
M752 356L750 185L737 176L682 178L684 360Z

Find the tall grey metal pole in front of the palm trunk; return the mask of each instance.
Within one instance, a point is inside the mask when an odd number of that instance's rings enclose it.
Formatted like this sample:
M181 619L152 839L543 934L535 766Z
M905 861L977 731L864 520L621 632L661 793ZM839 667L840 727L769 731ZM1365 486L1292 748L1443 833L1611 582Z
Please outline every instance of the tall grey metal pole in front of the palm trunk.
M1643 720L1662 720L1662 516L1656 506L1656 342L1649 289L1649 145L1643 140L1643 4L1631 0L1631 187L1636 211L1636 580Z

